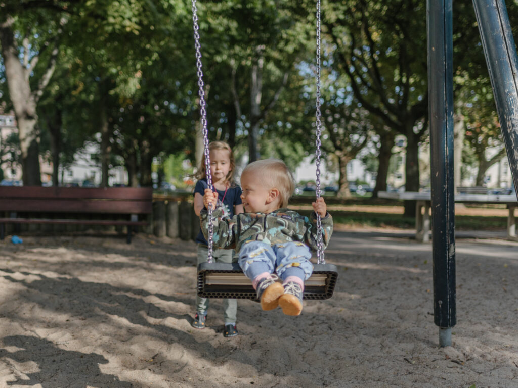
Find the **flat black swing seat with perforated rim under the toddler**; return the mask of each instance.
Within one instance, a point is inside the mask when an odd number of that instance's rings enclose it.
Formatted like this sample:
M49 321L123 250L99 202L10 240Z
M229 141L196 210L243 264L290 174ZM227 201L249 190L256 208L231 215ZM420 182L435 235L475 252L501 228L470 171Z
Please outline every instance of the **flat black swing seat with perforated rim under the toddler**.
M329 299L333 296L338 272L334 264L313 264L306 280L304 299ZM198 296L204 298L251 299L257 302L252 282L238 263L201 263L198 265Z

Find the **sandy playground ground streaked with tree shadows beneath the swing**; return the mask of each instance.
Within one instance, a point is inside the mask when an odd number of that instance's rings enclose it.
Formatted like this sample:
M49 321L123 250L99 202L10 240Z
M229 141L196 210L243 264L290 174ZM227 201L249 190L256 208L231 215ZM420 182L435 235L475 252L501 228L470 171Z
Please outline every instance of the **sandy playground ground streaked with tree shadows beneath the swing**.
M440 348L431 244L337 231L335 294L300 317L220 300L191 327L195 245L139 234L0 242L0 387L518 387L518 243L457 242L457 325Z

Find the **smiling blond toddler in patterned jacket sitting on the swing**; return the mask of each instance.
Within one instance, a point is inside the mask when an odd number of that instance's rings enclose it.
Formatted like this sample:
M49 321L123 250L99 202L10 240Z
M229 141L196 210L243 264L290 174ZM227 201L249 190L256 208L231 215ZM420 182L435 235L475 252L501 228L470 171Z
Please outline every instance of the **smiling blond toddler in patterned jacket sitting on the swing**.
M295 184L280 159L250 163L241 174L241 189L245 213L232 218L222 217L215 207L217 197L210 189L205 190L205 207L212 203L214 209L214 246L236 248L239 266L252 280L263 310L281 306L285 315L298 316L303 308L304 281L313 272L309 247L318 249L316 213L321 216L324 248L333 233L333 218L322 197L312 202L314 213L309 219L287 208ZM200 213L206 238L207 214L206 209Z

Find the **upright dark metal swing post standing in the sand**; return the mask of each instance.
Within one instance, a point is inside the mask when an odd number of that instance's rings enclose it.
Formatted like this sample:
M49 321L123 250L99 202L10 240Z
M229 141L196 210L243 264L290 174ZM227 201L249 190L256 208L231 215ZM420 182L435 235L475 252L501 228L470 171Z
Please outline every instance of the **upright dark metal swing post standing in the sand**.
M452 0L426 2L434 322L439 326L441 347L451 345L451 329L457 320L452 7Z

